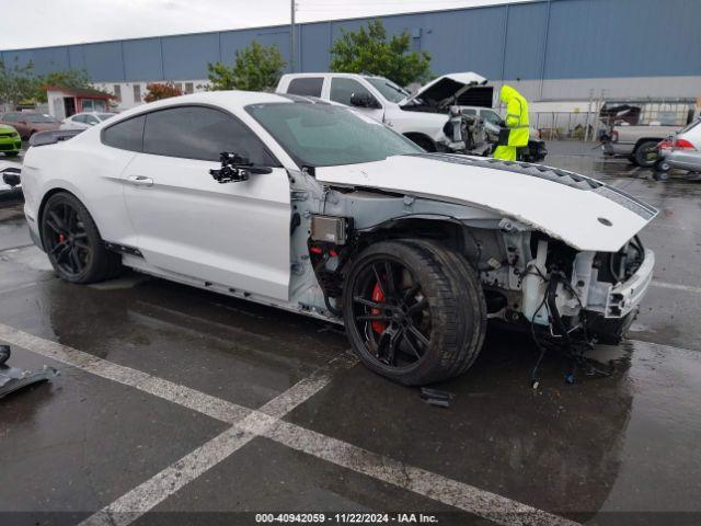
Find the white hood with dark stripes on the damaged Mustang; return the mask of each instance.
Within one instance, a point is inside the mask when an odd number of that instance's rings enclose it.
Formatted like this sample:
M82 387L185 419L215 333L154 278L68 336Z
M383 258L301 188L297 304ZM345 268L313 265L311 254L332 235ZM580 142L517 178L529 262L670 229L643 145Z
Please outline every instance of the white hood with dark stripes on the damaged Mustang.
M539 164L421 153L315 170L317 180L493 210L581 251L616 252L656 215L650 205L584 175Z

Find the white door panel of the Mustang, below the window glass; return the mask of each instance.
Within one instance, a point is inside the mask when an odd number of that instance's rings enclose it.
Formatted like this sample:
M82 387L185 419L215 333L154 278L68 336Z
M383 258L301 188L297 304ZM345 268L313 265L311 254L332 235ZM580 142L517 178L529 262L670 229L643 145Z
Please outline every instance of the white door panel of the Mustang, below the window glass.
M246 184L219 184L209 176L217 168L137 153L124 172L134 247L159 268L287 300L287 172L276 168Z

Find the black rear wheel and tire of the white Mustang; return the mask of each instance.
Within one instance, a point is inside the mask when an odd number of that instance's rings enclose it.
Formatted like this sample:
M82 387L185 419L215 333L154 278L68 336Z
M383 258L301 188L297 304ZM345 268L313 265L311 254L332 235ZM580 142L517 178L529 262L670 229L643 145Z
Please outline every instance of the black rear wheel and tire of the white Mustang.
M94 220L72 194L51 195L44 206L42 243L61 279L89 284L116 277L122 256L110 252Z

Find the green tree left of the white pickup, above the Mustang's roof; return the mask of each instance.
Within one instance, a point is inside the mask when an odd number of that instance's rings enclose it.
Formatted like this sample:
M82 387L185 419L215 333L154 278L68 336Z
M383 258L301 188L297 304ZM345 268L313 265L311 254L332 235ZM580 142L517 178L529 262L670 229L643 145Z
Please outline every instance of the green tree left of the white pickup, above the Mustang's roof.
M235 64L208 64L208 77L212 90L271 90L277 84L285 60L277 46L262 46L253 41L250 46L237 49Z

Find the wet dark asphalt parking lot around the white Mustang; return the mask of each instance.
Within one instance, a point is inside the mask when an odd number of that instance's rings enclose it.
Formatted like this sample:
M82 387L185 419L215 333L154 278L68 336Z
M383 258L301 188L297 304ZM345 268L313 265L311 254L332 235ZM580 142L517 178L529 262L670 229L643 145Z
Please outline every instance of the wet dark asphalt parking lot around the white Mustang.
M255 524L235 512L271 511L700 524L701 182L657 183L588 146L549 148L549 164L660 209L642 235L656 253L654 285L630 340L593 353L610 376L579 371L567 385L567 364L547 355L533 391L528 339L491 329L473 368L436 386L455 395L450 409L353 365L345 336L319 321L137 274L60 282L31 245L21 206L0 202L0 343L22 343L14 367L60 370L0 400L0 524L76 524L115 501L129 505L113 511L150 513L113 513L112 524ZM61 358L59 347L77 351ZM320 369L324 382L301 400L265 409ZM129 384L131 370L191 397L153 395ZM226 455L231 442L215 442L193 470L191 451L231 424L198 397L263 408L277 431ZM175 482L143 487L169 469ZM515 503L549 515L514 515Z

